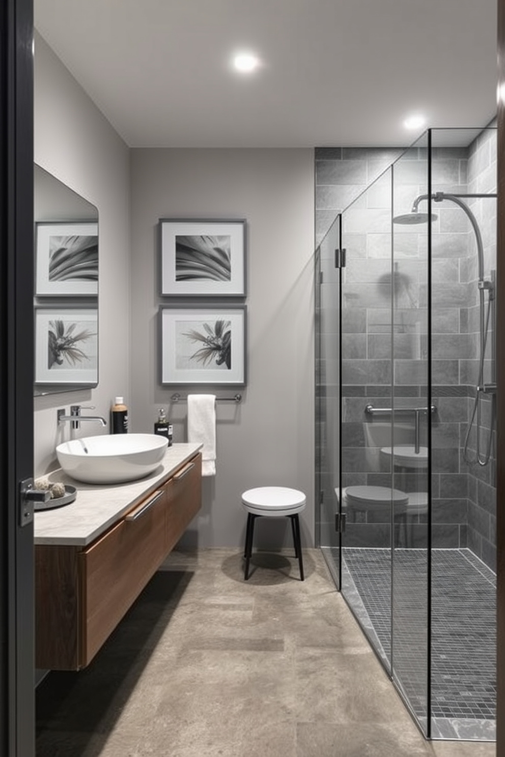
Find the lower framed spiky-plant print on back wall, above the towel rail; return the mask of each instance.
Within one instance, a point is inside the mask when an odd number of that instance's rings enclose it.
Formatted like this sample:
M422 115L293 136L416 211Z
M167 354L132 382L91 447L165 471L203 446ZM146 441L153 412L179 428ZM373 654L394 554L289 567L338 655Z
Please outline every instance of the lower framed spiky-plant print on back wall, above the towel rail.
M160 307L161 383L245 386L246 307Z

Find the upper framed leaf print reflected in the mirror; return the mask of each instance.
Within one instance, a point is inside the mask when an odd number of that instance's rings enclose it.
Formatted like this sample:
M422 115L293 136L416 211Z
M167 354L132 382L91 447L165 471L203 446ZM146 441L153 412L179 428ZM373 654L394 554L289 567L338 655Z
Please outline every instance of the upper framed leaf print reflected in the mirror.
M36 294L98 294L98 223L36 223Z

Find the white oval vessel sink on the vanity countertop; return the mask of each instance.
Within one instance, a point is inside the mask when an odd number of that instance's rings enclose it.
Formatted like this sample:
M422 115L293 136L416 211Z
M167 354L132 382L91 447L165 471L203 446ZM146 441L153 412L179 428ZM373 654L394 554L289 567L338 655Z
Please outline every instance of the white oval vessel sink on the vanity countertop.
M56 447L61 468L86 484L120 484L144 478L160 465L168 440L155 434L87 436Z

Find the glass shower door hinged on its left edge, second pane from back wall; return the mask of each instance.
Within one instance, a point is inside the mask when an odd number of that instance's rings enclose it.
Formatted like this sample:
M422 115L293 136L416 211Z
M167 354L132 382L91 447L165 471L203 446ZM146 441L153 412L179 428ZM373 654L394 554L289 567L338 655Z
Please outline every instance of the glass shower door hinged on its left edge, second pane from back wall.
M391 170L341 215L342 593L391 672ZM381 413L376 415L376 411Z

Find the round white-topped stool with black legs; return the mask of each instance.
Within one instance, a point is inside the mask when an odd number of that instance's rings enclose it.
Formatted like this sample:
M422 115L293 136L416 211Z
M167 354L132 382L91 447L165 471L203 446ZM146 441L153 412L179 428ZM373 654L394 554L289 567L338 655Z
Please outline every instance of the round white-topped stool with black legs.
M248 525L245 531L245 581L249 578L249 562L251 560L254 521L260 517L287 517L291 519L291 530L295 544L295 557L300 565L300 578L304 581L304 563L301 558L300 521L298 513L307 504L307 497L303 491L288 489L283 486L262 486L248 489L242 494L242 505L248 513Z

